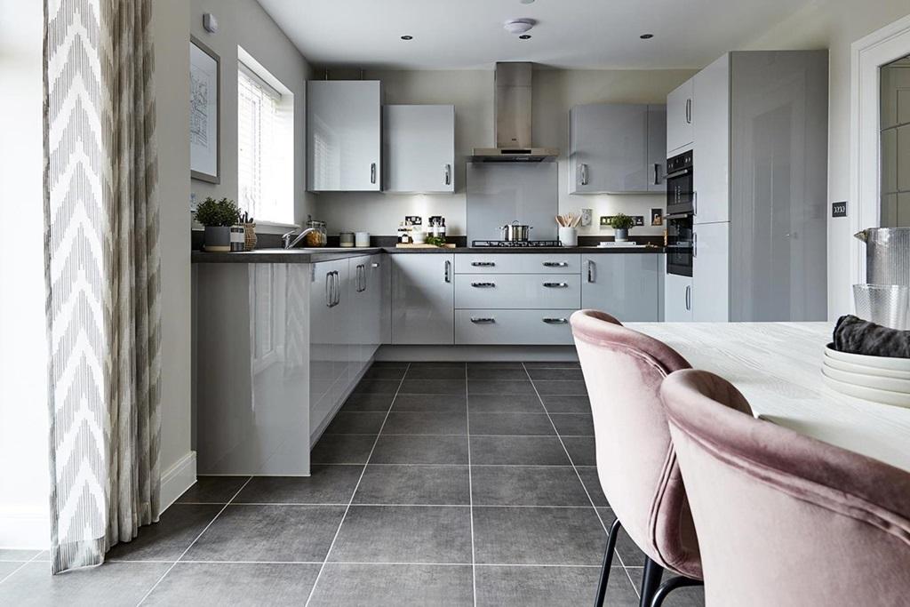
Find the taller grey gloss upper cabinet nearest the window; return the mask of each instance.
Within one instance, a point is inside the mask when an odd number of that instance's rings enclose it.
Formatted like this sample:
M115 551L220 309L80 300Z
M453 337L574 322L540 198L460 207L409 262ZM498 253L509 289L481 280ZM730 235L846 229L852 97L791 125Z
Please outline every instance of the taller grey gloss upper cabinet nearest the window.
M379 80L307 83L309 191L379 191L381 107Z

